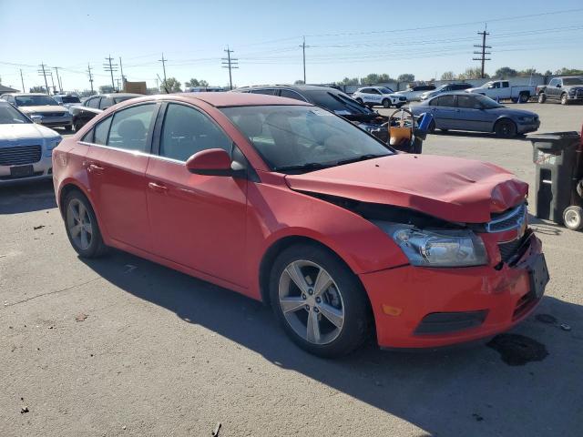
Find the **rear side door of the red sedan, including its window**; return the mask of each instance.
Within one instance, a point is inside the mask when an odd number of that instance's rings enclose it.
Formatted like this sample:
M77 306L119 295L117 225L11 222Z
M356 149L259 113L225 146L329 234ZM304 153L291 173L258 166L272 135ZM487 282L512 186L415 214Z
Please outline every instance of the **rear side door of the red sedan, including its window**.
M107 235L133 248L151 250L146 208L146 168L159 104L125 107L94 128L87 174Z

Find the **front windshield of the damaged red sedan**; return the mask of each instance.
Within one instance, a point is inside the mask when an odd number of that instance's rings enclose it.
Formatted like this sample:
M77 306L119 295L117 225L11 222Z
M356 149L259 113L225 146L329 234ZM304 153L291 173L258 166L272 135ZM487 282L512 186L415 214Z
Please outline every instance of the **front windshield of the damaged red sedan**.
M319 107L224 107L272 170L310 171L393 152L361 128Z

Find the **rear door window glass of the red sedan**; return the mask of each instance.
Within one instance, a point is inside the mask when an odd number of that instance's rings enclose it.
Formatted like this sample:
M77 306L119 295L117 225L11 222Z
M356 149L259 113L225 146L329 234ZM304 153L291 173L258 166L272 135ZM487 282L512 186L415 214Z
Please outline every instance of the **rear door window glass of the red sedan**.
M146 152L148 132L155 113L156 104L120 109L113 115L107 146Z

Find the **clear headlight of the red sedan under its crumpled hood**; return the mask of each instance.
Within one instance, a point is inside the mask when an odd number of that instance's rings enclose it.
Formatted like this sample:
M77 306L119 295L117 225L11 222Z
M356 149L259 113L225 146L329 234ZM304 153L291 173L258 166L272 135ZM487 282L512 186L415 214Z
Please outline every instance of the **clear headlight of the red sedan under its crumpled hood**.
M411 225L374 221L394 239L414 266L468 267L487 264L484 242L471 230L416 229Z

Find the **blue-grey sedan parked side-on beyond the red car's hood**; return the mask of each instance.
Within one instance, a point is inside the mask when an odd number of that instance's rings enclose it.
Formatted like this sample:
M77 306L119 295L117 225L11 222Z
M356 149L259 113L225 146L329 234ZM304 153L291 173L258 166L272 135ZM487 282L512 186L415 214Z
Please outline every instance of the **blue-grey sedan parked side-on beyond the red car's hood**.
M495 132L497 137L515 137L534 132L540 126L538 115L500 105L490 97L465 92L446 93L412 107L414 115L433 114L430 132L440 129Z

